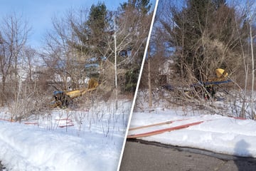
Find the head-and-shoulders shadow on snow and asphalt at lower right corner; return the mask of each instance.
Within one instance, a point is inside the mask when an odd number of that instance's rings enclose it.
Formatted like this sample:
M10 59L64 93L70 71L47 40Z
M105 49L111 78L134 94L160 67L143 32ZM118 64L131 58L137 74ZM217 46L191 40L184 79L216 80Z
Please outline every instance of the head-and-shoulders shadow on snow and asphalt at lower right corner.
M247 157L237 157L234 162L239 171L256 170L256 158L252 157L247 148L250 145L245 140L240 140L235 145L235 153L245 155ZM249 154L249 155L248 155Z

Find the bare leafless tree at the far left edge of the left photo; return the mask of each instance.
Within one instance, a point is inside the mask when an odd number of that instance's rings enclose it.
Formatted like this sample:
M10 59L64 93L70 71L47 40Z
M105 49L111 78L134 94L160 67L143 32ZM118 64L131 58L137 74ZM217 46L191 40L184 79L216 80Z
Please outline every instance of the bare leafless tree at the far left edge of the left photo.
M30 28L28 22L24 21L22 16L11 14L5 16L1 23L1 95L4 98L1 105L4 105L6 100L6 81L11 78L11 68L14 73L14 95L18 91L18 63L21 58Z

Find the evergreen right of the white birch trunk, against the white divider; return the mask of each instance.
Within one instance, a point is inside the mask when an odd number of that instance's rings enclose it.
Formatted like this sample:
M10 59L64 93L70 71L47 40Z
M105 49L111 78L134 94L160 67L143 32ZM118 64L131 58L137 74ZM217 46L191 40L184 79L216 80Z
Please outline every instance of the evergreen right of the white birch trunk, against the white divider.
M129 57L127 56L129 62L122 66L122 68L127 70L124 75L125 82L122 90L134 91L137 86L137 78L151 23L152 14L150 9L151 4L149 0L129 0L120 4L117 23L126 30L126 34L124 33L123 36L120 36L119 41L124 40L124 37L129 40L129 43L127 43L123 50L130 53Z

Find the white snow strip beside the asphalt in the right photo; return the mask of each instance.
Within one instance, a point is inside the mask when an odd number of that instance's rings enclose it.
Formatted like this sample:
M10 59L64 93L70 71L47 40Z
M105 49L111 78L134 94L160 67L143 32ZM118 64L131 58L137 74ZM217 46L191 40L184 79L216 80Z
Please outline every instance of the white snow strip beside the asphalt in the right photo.
M187 108L187 110L188 109L189 108ZM155 108L154 111L151 112L136 112L132 115L129 128L165 121L174 121L174 123L129 130L128 135L147 133L152 130L161 130L203 121L201 124L193 125L188 128L173 130L140 139L180 147L195 147L226 155L256 157L255 120L241 120L223 115L202 115L198 113L201 112L191 110L184 113L184 109L181 107L169 109Z

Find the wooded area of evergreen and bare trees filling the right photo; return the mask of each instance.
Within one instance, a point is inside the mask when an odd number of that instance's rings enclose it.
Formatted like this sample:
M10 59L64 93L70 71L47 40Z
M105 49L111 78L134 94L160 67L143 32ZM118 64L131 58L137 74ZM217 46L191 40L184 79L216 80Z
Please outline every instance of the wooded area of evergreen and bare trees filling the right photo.
M254 1L243 2L159 1L141 88L157 94L154 100L164 96L161 88L165 88L173 92L165 97L170 103L184 104L185 100L216 111L216 106L211 108L203 99L206 88L193 85L215 78L215 70L223 68L232 83L215 87L225 93L238 90L233 100L243 101L244 105L250 101L253 118L256 13ZM245 116L247 106L243 107L237 111L240 116Z

